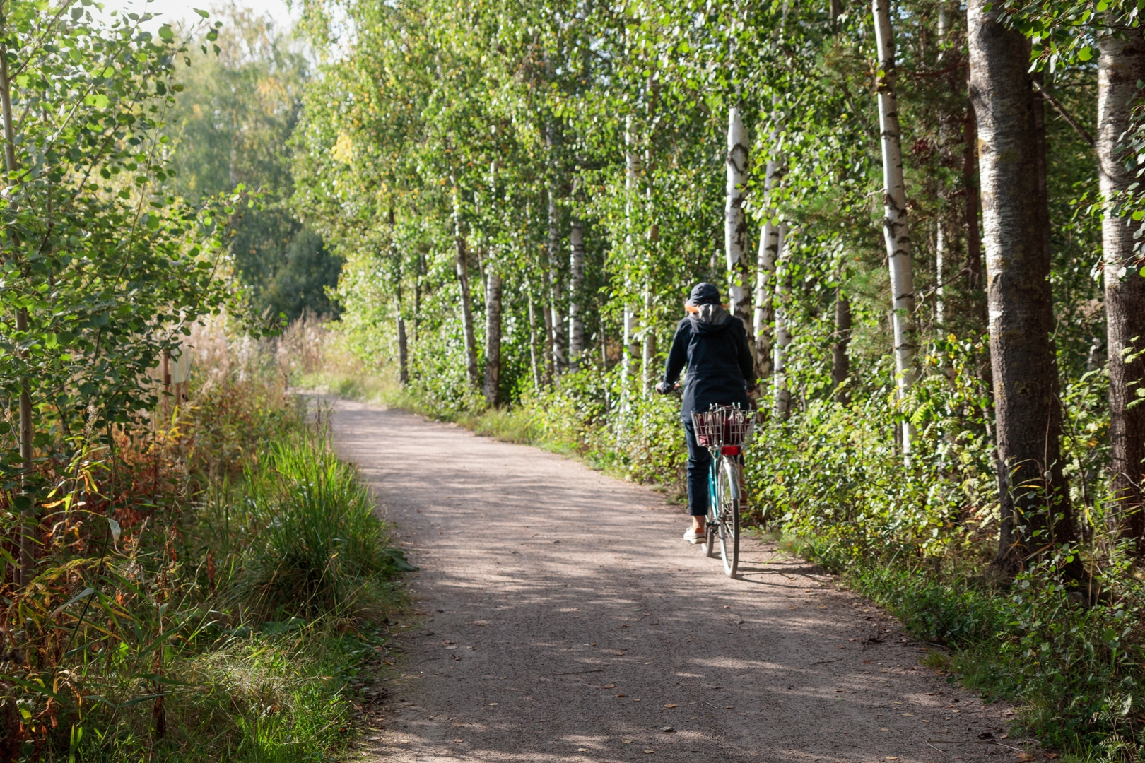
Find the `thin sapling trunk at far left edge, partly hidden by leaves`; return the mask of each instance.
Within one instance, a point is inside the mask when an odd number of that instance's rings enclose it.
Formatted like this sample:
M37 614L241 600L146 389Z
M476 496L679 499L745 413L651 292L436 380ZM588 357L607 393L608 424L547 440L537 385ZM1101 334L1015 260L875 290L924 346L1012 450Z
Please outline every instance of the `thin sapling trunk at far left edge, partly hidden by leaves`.
M0 26L0 30L7 31L3 26ZM0 45L0 110L2 110L3 116L5 168L8 170L8 182L5 185L10 185L14 182L11 177L19 169L19 166L16 164L16 125L13 121L11 114L11 80L8 78L8 48L3 45ZM17 332L24 333L27 331L27 318L26 308L16 310ZM22 352L21 357L26 358L26 353ZM32 388L26 376L19 381L18 407L17 435L19 438L21 471L23 472L21 485L25 503L21 512L23 522L19 530L18 582L23 587L32 582L32 578L35 575L35 528L38 524L35 496L32 490L32 470L34 469L32 460Z

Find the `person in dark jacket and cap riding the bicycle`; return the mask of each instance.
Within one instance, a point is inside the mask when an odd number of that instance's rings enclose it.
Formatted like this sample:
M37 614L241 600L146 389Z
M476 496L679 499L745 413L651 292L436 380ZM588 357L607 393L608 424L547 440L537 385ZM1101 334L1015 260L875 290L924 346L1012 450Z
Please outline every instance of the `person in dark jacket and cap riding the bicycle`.
M748 347L747 328L740 318L728 313L720 304L718 288L711 284L696 284L684 309L688 315L676 326L664 381L656 384L656 391L661 395L672 391L687 365L680 418L688 445L688 514L692 515L692 528L684 533L684 540L702 543L708 516L711 454L696 442L692 413L708 411L712 404L739 404L748 408L749 392L756 388L756 364Z

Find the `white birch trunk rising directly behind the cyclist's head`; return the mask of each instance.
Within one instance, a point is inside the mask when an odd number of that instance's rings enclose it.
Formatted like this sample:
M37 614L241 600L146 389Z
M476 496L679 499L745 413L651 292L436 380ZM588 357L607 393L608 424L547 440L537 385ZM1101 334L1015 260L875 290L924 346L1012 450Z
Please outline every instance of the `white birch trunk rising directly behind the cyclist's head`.
M748 222L743 215L743 186L748 182L748 130L743 127L737 106L732 106L727 114L725 165L727 190L724 207L724 255L727 259L728 293L732 310L743 320L743 327L748 332L748 347L753 348L751 265L748 262Z

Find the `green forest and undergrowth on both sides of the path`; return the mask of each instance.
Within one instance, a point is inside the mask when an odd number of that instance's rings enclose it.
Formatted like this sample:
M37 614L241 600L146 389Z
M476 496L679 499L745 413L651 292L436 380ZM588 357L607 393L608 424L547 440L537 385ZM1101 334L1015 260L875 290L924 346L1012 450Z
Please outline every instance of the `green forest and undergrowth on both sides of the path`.
M1143 757L1136 5L3 7L0 758L337 749L408 564L286 384L678 486L697 280L748 518Z

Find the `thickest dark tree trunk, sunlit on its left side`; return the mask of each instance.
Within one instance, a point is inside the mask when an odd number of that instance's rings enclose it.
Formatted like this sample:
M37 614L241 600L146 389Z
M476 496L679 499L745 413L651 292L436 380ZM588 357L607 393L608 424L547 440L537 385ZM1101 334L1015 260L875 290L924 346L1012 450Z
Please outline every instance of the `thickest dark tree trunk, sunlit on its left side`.
M971 98L978 118L990 365L1002 523L996 570L1012 573L1055 543L1076 540L1061 474L1058 369L1048 247L1042 104L1029 42L987 0L970 0ZM1040 156L1041 154L1041 156ZM1081 562L1066 571L1081 575Z

